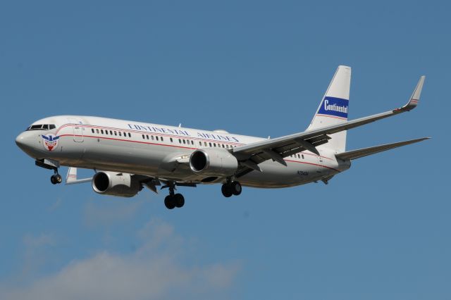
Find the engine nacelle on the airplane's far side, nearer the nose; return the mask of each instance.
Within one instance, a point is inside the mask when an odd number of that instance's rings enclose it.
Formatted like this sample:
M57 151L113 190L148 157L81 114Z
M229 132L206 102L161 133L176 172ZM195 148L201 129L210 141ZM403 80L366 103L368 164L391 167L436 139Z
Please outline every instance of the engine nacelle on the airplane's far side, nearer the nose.
M132 197L142 185L128 173L98 172L92 177L92 189L99 194Z

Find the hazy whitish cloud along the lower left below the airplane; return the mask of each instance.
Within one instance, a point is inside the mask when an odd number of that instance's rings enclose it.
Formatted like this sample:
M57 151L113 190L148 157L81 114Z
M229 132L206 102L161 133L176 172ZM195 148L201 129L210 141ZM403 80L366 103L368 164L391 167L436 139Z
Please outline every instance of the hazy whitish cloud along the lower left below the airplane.
M130 254L101 251L72 261L25 287L0 287L0 299L218 299L240 269L236 262L183 263L187 243L166 223L150 222L139 236L142 246Z

